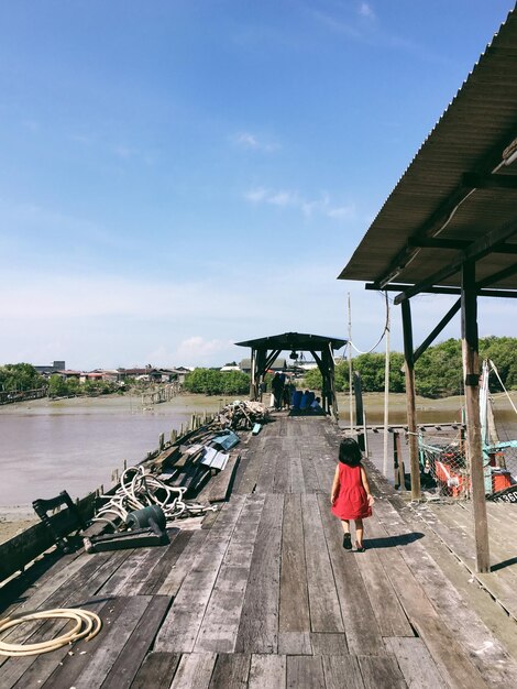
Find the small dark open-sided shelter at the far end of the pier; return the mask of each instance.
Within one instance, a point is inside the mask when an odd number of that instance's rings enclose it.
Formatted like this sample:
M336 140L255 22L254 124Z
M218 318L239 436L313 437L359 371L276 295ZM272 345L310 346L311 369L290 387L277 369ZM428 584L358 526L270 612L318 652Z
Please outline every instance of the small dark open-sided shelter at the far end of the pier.
M282 351L290 351L293 360L297 359L300 351L308 351L315 358L322 378L322 407L328 414L338 418L338 401L334 385L334 358L333 352L346 344L346 340L321 335L307 335L304 332L284 332L283 335L270 335L256 340L235 342L239 347L251 347L251 383L250 397L257 400L261 383L272 363Z

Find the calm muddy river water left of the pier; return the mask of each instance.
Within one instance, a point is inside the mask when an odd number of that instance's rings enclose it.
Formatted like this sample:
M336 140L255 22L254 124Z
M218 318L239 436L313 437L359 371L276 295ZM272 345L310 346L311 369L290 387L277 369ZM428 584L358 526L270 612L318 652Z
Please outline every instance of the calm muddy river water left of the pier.
M30 505L66 490L82 497L111 472L140 462L160 434L189 423L193 413L216 412L218 397L179 395L142 407L140 397L37 400L0 407L0 510Z

